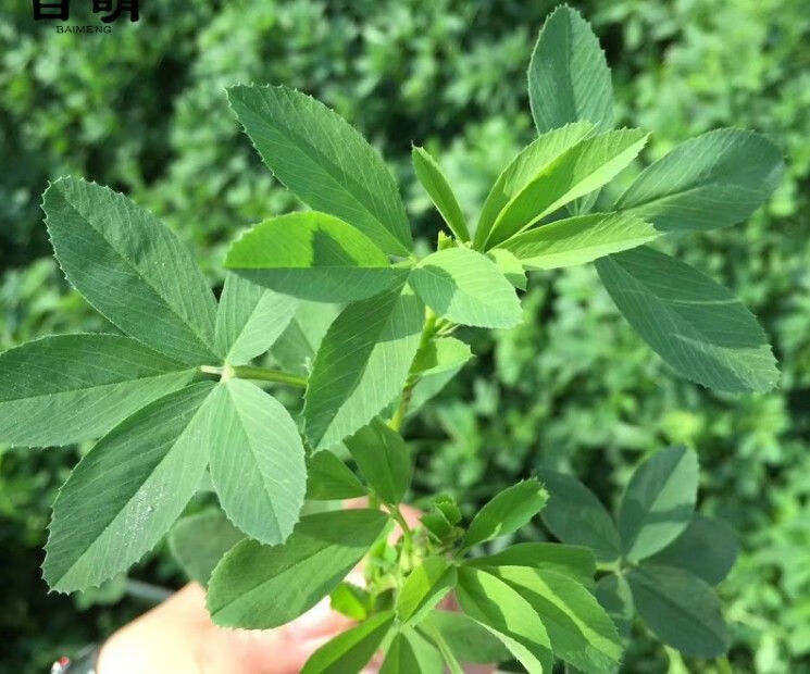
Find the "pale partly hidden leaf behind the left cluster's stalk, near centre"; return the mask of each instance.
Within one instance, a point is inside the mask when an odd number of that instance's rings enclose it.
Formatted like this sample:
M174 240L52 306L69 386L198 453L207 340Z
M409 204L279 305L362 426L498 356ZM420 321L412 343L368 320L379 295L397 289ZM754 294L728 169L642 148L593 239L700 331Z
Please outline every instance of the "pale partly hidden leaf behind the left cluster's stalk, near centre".
M287 372L309 375L321 340L339 313L337 304L299 301L289 325L270 348L271 355Z

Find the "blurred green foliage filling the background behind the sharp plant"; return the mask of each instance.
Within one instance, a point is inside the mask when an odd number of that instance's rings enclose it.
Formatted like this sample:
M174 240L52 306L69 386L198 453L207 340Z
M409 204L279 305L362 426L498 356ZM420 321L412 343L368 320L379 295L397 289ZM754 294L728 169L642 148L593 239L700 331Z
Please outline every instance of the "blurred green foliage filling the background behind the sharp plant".
M88 7L85 8L84 5ZM98 23L73 0L72 23ZM556 0L151 0L111 35L58 35L29 2L0 13L0 348L105 326L50 258L39 195L77 174L127 192L188 241L213 282L224 245L298 208L229 113L223 87L285 83L322 99L379 147L416 230L438 215L415 185L411 141L440 157L474 217L533 135L525 68ZM653 132L646 160L720 126L770 136L787 175L731 229L672 241L758 314L778 390L726 396L678 379L620 320L590 266L536 275L515 330L469 332L477 359L407 428L420 494L472 511L540 463L613 503L646 452L699 452L701 508L743 553L721 586L735 672L810 671L810 12L807 0L587 0L613 68L620 124ZM36 671L142 610L117 581L47 596L41 547L79 450L0 448L2 671ZM529 535L543 536L538 529ZM164 550L133 571L180 582ZM123 598L122 598L123 597ZM142 599L142 597L141 597ZM638 633L627 672L681 672ZM686 663L711 671L711 663Z

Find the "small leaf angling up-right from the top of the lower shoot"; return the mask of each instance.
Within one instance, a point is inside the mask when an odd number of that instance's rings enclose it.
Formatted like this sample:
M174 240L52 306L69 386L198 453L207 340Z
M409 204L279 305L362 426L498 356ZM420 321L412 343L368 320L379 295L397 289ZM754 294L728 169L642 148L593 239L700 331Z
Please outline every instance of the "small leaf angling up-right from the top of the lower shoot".
M464 547L516 532L540 512L548 492L536 479L526 479L497 494L476 513L464 537Z

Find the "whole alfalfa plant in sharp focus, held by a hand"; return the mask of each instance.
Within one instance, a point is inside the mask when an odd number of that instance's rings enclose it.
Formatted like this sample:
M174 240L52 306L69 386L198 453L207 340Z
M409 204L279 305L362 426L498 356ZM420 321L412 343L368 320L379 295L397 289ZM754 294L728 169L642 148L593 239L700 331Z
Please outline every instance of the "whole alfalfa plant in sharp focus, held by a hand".
M403 421L471 358L458 326L521 321L526 272L543 283L547 270L595 262L641 338L698 384L757 391L777 378L743 303L655 247L747 217L780 179L776 148L714 130L647 166L615 201L597 201L647 134L613 128L605 57L565 7L540 33L528 93L538 137L500 174L472 230L437 161L414 148L416 176L448 229L419 259L391 174L349 124L284 86L229 89L265 163L312 210L239 237L219 302L151 213L82 179L49 186L55 257L121 330L46 337L0 357L2 441L100 438L53 506L51 588L124 572L198 491L213 490L220 508L182 520L172 545L208 585L216 624L273 627L326 596L358 621L315 652L308 673L357 672L377 650L385 672L508 659L529 672L551 671L554 659L610 671L634 606L683 653L725 652L712 585L736 541L694 514L689 450L638 469L616 525L581 483L551 472L503 490L469 522L440 495L419 526L402 516L412 472ZM300 414L266 390L275 386L303 391ZM367 504L312 506L354 497ZM488 541L544 507L564 542L493 552ZM403 534L388 542L395 525ZM363 587L344 579L361 560ZM459 612L439 608L450 592Z

